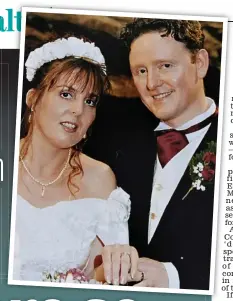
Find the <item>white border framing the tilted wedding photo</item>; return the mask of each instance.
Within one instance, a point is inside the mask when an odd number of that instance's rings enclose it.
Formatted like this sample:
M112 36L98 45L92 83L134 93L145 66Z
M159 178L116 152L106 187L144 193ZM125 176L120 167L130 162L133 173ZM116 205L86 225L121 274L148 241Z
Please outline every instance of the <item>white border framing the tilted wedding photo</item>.
M22 108L22 92L23 92L23 70L24 70L24 49L25 49L25 31L27 13L48 13L48 14L64 14L64 15L91 15L91 16L120 16L120 17L140 17L140 18L160 18L160 19L180 19L180 20L198 20L210 22L222 22L222 51L221 51L221 73L220 73L220 89L219 89L219 116L218 116L218 132L217 132L217 157L216 157L216 173L215 173L215 189L214 189L214 210L213 210L213 226L212 226L212 247L211 247L211 267L210 267L210 285L209 290L191 290L191 289L172 289L172 288L139 288L115 285L97 285L97 284L77 284L77 283L54 283L43 281L21 281L13 279L14 266L14 245L15 245L15 220L16 220L16 202L17 202L17 186L18 186L18 163L19 163L19 141L21 129L21 108ZM22 286L39 286L39 287L64 287L64 288L82 288L97 290L117 290L117 291L133 291L133 292L154 292L154 293L174 293L174 294L195 294L195 295L213 295L214 294L214 278L215 278L215 261L216 261L216 243L218 228L218 207L220 196L220 169L221 169L221 151L223 136L223 103L225 88L225 70L226 70L226 49L227 49L227 28L228 18L226 17L203 17L191 15L173 15L173 14L155 14L155 13L130 13L130 12L113 12L99 10L78 10L78 9L57 9L57 8L35 8L22 7L22 26L20 37L20 57L19 57L19 77L18 77L18 96L16 111L16 130L15 130L15 154L14 154L14 171L13 171L13 188L12 188L12 209L11 209L11 229L10 229L10 251L8 265L8 284Z

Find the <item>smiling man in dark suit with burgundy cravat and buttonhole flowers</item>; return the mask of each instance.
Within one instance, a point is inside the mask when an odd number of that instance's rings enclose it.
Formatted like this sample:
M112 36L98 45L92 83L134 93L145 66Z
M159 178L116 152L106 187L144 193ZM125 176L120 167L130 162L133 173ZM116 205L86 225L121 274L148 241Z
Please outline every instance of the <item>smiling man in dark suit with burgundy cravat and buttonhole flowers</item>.
M160 120L152 130L122 131L105 160L131 195L142 286L208 290L217 108L205 95L200 23L136 19L121 37L140 98Z

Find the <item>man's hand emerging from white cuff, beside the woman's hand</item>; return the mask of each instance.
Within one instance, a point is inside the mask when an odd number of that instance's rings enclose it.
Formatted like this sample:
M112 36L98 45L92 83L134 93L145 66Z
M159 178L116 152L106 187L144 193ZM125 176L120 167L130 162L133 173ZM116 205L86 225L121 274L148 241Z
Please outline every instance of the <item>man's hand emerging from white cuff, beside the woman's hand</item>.
M169 279L163 263L149 258L139 258L138 271L143 273L143 280L134 286L169 287Z

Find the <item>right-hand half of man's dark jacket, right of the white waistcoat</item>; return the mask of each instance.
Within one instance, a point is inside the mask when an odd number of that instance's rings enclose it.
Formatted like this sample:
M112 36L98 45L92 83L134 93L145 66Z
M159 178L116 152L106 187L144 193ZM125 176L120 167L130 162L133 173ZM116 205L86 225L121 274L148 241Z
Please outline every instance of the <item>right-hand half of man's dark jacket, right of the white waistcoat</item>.
M217 118L195 154L205 151L207 143L216 141L216 136ZM181 288L208 290L214 181L206 191L194 189L182 200L192 184L189 170L188 166L143 256L172 262L178 270Z

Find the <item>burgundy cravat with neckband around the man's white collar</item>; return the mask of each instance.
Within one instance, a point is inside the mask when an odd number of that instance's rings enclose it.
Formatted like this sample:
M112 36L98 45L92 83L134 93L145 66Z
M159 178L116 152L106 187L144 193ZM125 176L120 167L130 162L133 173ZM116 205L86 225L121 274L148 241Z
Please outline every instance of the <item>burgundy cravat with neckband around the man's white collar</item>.
M189 127L186 130L177 131L175 129L157 131L158 157L161 166L164 167L176 154L178 154L189 142L186 134L196 132L208 124L217 116L217 110L204 121Z

